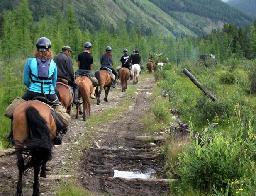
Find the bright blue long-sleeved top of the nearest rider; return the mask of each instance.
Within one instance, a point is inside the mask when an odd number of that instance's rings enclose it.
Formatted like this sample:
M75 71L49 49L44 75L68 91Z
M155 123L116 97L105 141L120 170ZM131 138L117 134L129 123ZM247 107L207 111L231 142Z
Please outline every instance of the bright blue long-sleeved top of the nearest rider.
M50 94L55 93L54 88L56 87L56 81L57 81L57 66L53 60L51 60L51 62L50 62L49 74L48 74L48 77L53 75L53 79L44 80L44 82L51 82L51 84L44 84L43 86L41 86L41 83L30 82L30 80L29 80L30 78L34 81L43 82L43 80L40 80L40 79L32 76L31 73L38 77L37 59L34 57L29 58L26 62L26 65L24 68L24 76L23 76L24 84L28 87L29 91L42 93L41 89L43 88L44 94L49 94L49 89L51 90Z

